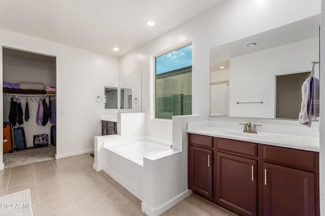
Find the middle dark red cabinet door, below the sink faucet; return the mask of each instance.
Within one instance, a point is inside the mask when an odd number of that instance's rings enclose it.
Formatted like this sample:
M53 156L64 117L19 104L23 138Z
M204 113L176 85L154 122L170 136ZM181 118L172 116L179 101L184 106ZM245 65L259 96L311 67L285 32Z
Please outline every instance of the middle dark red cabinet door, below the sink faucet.
M217 152L217 202L239 215L256 215L256 169L256 160Z

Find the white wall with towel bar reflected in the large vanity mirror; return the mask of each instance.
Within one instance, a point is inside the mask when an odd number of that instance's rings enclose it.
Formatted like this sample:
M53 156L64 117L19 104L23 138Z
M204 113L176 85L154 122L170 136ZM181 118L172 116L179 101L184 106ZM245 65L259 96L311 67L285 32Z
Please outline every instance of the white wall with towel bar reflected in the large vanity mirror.
M318 59L318 37L230 59L230 116L274 118L275 75L310 71Z

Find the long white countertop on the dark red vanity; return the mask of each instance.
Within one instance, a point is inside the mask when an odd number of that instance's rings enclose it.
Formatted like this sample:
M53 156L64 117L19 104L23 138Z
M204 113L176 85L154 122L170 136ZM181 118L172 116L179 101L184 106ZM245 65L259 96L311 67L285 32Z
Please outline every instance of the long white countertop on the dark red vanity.
M252 143L261 143L272 146L280 146L307 151L319 152L319 138L285 135L275 133L257 132L257 134L244 133L239 129L221 128L214 126L203 126L191 128L186 131L190 134L199 134L232 140L241 140Z

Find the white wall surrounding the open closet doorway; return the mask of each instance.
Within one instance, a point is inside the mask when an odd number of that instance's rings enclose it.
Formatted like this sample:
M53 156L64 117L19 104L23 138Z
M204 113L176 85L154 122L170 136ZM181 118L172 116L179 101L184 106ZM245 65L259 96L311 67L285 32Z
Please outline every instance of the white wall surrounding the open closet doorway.
M105 113L103 103L97 103L96 97L104 98L104 86L118 86L118 58L5 30L0 30L0 46L56 56L56 156L93 151L93 137L101 135L100 119ZM2 83L3 63L0 62ZM2 97L0 94L1 103ZM64 115L60 114L61 110Z

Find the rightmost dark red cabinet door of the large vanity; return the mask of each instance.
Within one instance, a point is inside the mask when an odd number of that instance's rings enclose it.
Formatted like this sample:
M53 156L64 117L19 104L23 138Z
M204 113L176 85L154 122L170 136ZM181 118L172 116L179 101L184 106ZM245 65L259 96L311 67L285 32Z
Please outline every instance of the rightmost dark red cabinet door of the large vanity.
M264 163L264 215L315 215L314 174Z

